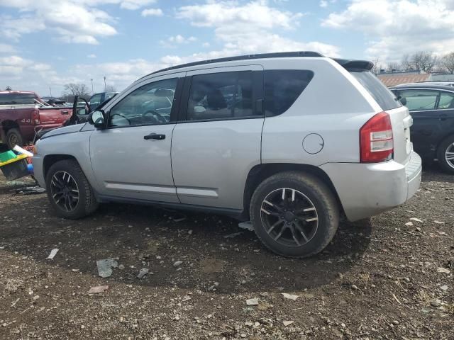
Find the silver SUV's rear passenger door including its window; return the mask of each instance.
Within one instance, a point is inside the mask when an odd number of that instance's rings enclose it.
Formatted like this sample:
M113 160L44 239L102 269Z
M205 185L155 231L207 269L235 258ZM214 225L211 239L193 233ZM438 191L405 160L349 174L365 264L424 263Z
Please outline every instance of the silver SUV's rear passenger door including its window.
M172 169L181 203L243 209L245 181L260 164L262 67L187 72Z

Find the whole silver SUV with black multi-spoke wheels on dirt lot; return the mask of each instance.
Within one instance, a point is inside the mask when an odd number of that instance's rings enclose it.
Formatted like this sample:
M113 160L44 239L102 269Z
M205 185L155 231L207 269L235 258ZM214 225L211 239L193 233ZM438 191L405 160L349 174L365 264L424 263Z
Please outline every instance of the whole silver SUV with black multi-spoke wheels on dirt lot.
M48 132L35 177L57 215L101 202L251 220L275 253L304 257L339 219L370 217L419 188L411 116L372 63L315 52L195 62L149 74Z

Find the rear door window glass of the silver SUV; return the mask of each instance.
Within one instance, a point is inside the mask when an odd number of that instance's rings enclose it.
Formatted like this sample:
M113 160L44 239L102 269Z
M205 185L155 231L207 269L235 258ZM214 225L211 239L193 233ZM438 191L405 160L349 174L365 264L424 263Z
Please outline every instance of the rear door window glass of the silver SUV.
M250 117L253 72L223 72L192 77L187 120Z

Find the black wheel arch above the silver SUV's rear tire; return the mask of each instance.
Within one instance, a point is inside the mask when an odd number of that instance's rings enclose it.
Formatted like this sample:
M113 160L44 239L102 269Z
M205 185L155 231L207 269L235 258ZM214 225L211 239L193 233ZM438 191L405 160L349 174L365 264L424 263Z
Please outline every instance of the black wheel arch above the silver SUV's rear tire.
M268 177L278 174L279 172L284 171L300 171L307 174L312 174L316 176L319 180L325 183L328 188L333 192L339 208L341 209L341 215L345 216L341 199L338 196L336 188L333 185L333 182L326 174L325 171L320 169L318 166L308 165L308 164L289 164L289 163L266 163L258 164L250 169L248 177L245 183L245 190L243 196L243 209L245 216L249 216L249 204L253 196L255 189L259 186L262 181Z

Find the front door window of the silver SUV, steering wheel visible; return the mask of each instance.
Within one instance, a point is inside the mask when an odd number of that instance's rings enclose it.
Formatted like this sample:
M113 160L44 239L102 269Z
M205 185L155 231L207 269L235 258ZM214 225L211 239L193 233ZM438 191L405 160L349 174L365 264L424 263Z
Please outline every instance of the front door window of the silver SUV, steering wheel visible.
M109 126L169 123L177 82L177 78L165 79L135 89L111 108Z

